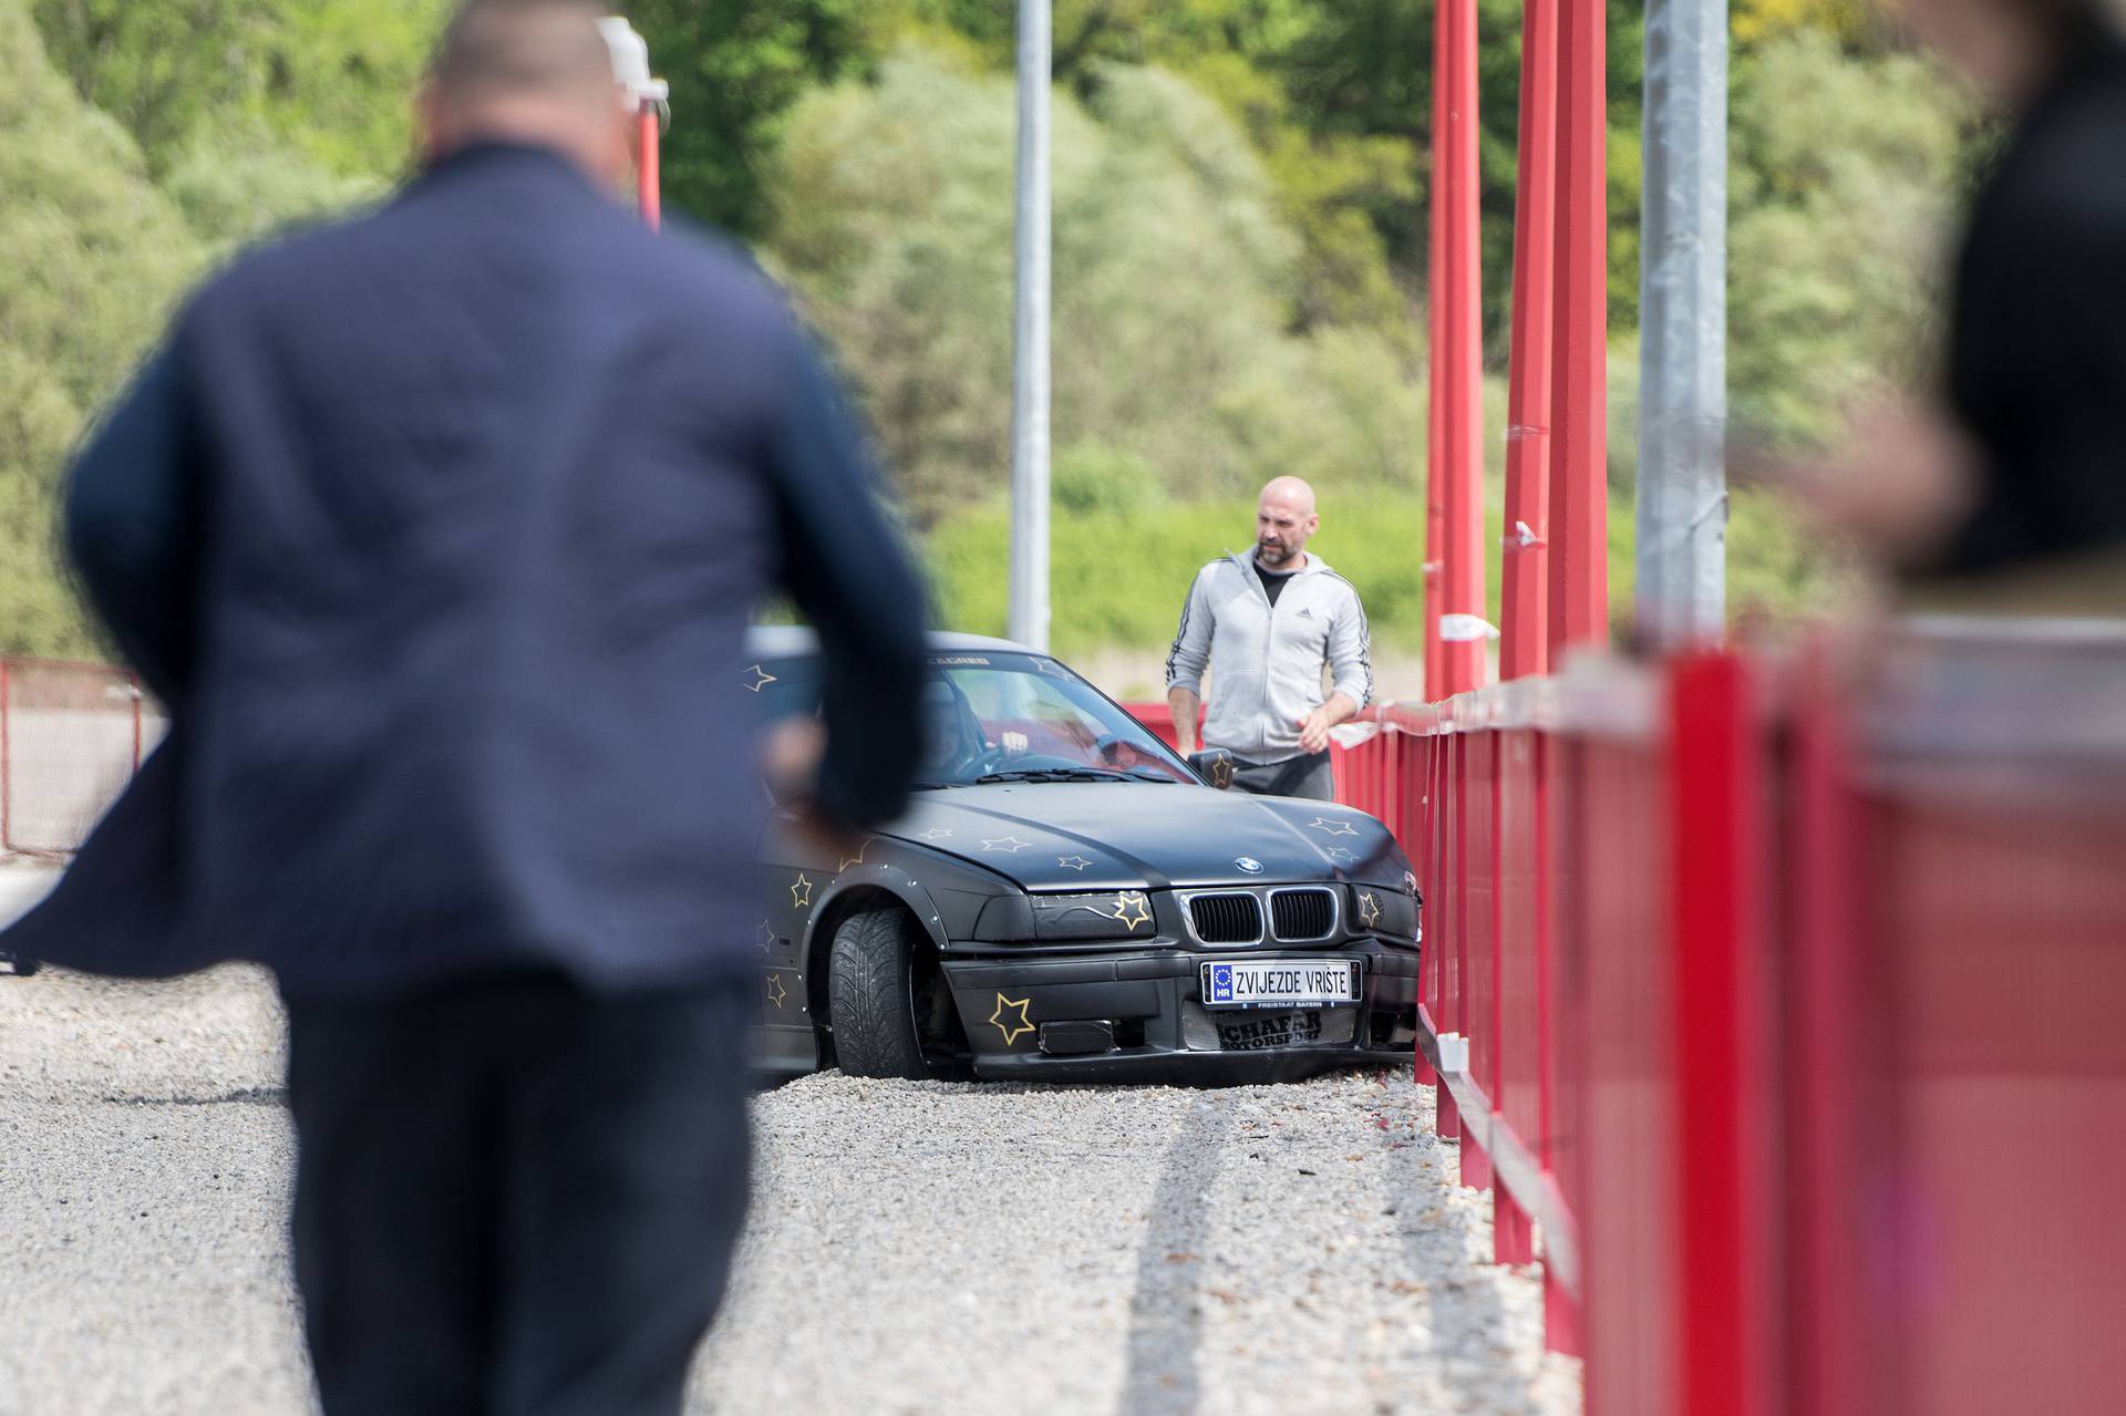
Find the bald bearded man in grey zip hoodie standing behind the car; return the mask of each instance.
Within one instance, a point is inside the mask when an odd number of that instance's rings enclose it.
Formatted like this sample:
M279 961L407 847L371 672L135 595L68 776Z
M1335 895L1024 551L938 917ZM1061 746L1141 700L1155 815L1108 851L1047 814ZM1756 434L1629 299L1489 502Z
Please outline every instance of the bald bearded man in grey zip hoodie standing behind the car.
M1233 755L1233 785L1242 791L1331 799L1329 729L1373 693L1365 606L1350 580L1307 555L1318 529L1312 487L1297 476L1263 487L1254 555L1222 555L1197 572L1167 653L1180 748L1199 748L1210 668L1201 746Z

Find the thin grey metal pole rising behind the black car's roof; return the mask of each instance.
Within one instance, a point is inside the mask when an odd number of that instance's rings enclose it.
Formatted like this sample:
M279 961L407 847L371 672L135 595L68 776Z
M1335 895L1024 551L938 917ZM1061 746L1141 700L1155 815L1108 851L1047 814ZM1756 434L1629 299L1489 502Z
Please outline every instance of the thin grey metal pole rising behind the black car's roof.
M1018 0L1010 636L1048 648L1048 0Z

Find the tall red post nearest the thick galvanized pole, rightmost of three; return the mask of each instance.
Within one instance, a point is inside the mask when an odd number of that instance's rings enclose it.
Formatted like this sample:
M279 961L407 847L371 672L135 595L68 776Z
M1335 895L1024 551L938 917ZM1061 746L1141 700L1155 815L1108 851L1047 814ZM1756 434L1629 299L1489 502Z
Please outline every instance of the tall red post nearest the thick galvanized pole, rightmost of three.
M1556 359L1550 381L1550 661L1609 642L1605 400L1609 208L1603 0L1558 0Z

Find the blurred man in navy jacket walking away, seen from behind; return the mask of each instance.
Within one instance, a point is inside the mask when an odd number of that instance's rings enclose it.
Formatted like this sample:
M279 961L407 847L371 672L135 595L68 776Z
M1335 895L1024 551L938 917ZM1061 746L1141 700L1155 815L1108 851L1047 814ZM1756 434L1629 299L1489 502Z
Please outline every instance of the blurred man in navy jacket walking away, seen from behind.
M819 627L829 840L897 814L921 591L736 251L617 200L580 0L472 0L381 210L176 317L66 493L170 736L9 948L270 965L323 1405L676 1412L746 1201L744 629Z

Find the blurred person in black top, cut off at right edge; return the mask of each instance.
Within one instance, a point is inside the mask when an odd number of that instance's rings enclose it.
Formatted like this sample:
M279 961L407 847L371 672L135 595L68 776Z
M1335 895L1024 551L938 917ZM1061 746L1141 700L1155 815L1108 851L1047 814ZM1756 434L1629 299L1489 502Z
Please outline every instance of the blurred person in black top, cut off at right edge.
M2126 612L2126 43L2100 0L1896 0L2009 115L1937 410L1860 419L1807 500L1920 602Z

